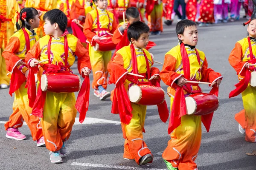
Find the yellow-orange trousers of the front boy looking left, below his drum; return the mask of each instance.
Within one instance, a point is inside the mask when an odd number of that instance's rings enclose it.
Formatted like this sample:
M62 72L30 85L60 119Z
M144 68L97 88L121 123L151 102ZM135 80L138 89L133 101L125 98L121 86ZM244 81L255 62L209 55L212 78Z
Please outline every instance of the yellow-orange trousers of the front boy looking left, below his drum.
M41 123L48 150L60 150L70 137L77 112L75 105L74 93L47 92Z

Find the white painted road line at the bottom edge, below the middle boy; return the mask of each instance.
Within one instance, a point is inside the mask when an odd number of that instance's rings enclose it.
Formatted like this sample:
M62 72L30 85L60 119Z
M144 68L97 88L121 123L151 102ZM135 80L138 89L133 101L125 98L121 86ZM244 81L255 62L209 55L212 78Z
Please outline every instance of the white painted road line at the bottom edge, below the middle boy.
M84 166L84 167L103 167L103 168L122 169L122 170L166 170L166 169L157 169L157 168L126 167L121 165L89 164L89 163L79 163L79 162L73 162L71 165Z

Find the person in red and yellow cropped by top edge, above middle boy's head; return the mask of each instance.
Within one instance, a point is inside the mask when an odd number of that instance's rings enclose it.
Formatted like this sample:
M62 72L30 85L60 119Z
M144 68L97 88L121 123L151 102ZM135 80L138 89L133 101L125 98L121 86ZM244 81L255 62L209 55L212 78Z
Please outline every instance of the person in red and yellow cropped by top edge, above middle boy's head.
M160 35L163 32L163 3L162 0L147 0L146 18L152 35Z

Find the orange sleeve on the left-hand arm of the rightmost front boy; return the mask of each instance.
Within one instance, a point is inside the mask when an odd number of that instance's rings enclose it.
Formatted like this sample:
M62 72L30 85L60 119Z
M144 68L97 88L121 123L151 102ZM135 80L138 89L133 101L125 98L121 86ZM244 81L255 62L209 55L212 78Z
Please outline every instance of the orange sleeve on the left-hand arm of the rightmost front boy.
M160 72L160 77L166 85L176 87L176 80L182 76L175 72L176 59L170 54L166 54L163 62L163 69Z

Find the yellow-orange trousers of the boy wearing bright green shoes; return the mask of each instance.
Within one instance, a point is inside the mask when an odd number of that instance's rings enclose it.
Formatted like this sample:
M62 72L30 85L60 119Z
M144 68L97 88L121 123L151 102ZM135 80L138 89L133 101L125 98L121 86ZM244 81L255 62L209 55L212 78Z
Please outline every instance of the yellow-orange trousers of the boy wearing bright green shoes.
M173 97L171 97L171 106ZM163 152L163 159L180 170L195 170L195 159L201 144L201 116L185 115L181 124L170 134L171 139Z

